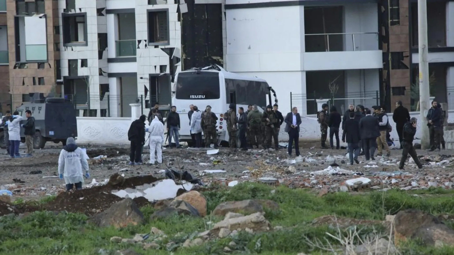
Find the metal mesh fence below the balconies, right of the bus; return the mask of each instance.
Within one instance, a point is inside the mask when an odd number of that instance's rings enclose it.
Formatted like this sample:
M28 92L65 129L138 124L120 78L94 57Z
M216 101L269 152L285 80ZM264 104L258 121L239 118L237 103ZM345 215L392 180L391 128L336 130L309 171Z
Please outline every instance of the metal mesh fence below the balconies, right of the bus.
M378 106L380 105L380 93L379 91L363 91L363 92L349 92L344 95L336 94L331 98L328 93L314 92L311 94L294 94L290 92L290 106L298 107L298 111L303 115L316 114L317 111L317 99L326 99L329 101L329 106L336 106L337 111L343 114L347 111L350 104L363 105L365 107Z

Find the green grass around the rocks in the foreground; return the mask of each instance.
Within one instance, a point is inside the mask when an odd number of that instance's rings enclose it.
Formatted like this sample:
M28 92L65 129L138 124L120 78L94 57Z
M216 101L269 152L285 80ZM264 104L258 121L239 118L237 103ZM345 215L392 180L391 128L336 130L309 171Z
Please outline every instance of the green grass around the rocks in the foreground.
M418 194L415 194L418 193ZM181 248L187 238L197 232L208 229L209 221L220 220L208 215L205 218L171 217L163 220L150 221L153 207L141 208L146 223L141 226L128 226L123 229L98 228L87 223L88 217L80 214L35 212L18 220L15 217L0 218L0 255L92 255L114 254L116 250L132 248L139 254L164 255L174 252L175 255L213 255L223 254L222 250L230 241L235 241L235 250L242 253L283 255L322 254L320 250L311 250L306 243L310 240L326 237L325 232L335 233L329 226L311 226L309 223L316 217L336 215L367 220L383 220L387 214L395 214L399 210L416 208L438 214L454 214L454 197L452 192L430 189L425 192L370 192L360 196L349 193L330 193L324 197L316 197L312 192L302 189L285 187L272 188L257 183L242 183L230 189L219 189L203 192L207 198L208 212L219 203L244 199L270 199L279 203L279 212L266 212L266 218L273 226L283 226L284 230L266 233L248 234L240 232L236 237L209 241L199 247ZM447 222L453 225L452 222ZM160 243L160 250L142 250L139 245L116 244L109 240L112 236L132 238L137 233L148 233L152 226L164 231L166 238ZM362 230L368 234L371 226ZM345 234L345 233L344 233ZM151 240L150 240L151 241ZM332 240L331 240L332 241ZM169 242L174 245L166 245ZM104 249L104 253L99 253ZM234 254L238 254L235 252ZM401 248L405 255L448 255L453 249L429 248L412 241Z

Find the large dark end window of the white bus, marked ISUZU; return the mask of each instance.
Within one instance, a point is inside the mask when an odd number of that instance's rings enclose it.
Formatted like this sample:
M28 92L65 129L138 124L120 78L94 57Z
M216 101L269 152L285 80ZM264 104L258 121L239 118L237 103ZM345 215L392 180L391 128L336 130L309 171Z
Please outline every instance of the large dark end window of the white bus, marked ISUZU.
M177 77L176 99L219 99L219 73L206 71L180 72Z

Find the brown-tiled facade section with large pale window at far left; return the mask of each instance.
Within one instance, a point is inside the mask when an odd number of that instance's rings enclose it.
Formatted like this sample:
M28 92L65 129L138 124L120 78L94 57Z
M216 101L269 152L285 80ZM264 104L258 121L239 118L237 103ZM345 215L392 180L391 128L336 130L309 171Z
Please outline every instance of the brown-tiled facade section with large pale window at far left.
M2 79L0 87L9 84L10 93L1 89L2 106L6 96L14 109L32 98L59 93L55 75L60 53L54 48L59 43L59 31L54 29L59 26L58 1L6 0L6 21L9 81Z

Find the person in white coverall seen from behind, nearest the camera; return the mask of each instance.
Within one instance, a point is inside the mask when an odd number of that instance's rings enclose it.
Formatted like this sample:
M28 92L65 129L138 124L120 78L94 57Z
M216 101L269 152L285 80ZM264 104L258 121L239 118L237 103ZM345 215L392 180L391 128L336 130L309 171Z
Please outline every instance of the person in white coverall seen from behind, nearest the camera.
M88 170L85 152L77 146L74 138L69 137L58 159L58 173L60 179L64 179L66 183L66 191L73 189L73 186L76 189L82 189L84 176L90 177Z

